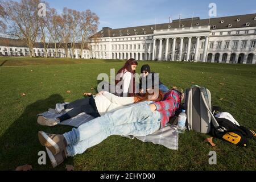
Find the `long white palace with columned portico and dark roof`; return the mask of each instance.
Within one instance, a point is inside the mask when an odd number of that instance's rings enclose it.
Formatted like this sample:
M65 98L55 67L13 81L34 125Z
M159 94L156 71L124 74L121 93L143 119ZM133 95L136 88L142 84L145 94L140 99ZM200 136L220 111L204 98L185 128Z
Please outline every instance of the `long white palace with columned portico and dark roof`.
M196 17L129 28L104 27L97 37L97 41L89 40L83 55L76 49L76 58L256 64L256 14ZM10 49L14 55L27 55L26 47L7 47L0 42L0 55L10 55ZM36 56L43 56L42 46L34 51ZM49 51L55 53L53 48ZM59 57L65 56L64 49L58 51Z

